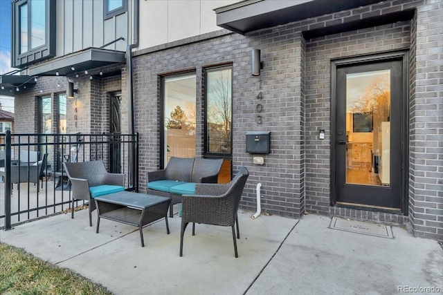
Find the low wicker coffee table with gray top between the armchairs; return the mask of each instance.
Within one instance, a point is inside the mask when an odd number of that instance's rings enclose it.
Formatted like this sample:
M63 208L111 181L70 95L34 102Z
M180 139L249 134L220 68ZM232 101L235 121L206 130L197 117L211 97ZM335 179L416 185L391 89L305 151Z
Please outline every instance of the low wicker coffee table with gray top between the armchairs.
M170 198L120 191L94 198L97 207L97 230L100 218L134 225L140 229L141 247L145 247L142 228L161 218L165 218L166 232L169 234L168 208Z

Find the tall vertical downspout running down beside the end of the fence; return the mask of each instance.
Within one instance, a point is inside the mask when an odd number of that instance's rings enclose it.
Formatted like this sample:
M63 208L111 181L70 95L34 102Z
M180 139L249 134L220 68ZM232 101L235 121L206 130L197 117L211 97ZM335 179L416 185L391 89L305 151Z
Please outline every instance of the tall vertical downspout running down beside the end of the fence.
M134 93L132 93L134 79L132 77L132 49L137 48L139 44L138 37L140 36L139 20L140 20L140 0L136 0L134 3L134 21L133 21L133 34L132 34L132 44L128 44L126 47L126 75L127 75L127 97L128 97L128 131L129 134L135 135L134 132ZM135 137L133 137L135 138ZM134 144L132 144L132 149L129 149L129 164L132 165L129 169L129 186L134 187L134 175L136 175L136 165L134 165ZM138 188L137 188L138 189Z

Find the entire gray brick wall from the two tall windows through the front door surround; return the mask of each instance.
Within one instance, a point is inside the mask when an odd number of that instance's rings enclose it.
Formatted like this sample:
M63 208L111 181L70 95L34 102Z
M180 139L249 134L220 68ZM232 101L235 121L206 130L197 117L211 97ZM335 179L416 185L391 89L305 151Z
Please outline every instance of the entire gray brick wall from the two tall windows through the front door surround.
M384 1L253 32L247 36L221 30L138 51L134 57L134 111L136 131L141 133L141 188L144 189L146 183L146 171L159 169L159 131L162 128L159 122L160 76L195 69L198 114L196 144L197 155L201 155L204 140L202 68L231 62L233 170L235 173L242 165L251 172L244 189L242 208L255 210L255 184L261 182L262 209L269 213L300 217L306 209L314 213L404 224L408 216L329 205L330 64L331 59L336 58L407 50L411 42L410 21L306 41L300 32L410 10L423 4L422 0ZM250 73L253 48L262 51L264 68L260 77L251 77ZM263 98L257 101L260 92ZM262 124L255 121L258 102L263 105L260 113ZM325 140L318 139L320 129L326 130ZM253 155L245 153L246 131L271 131L271 154L263 155L263 166L253 165ZM440 204L433 206L434 209L441 209ZM435 211L433 215L435 221L437 213Z

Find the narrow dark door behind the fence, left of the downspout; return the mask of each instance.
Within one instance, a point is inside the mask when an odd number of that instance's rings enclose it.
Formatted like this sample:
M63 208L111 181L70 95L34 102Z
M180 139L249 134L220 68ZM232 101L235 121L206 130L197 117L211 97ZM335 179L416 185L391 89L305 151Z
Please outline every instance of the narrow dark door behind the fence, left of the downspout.
M111 143L109 144L109 172L110 173L121 173L121 144L120 144L120 102L121 93L111 93L110 98L110 132Z

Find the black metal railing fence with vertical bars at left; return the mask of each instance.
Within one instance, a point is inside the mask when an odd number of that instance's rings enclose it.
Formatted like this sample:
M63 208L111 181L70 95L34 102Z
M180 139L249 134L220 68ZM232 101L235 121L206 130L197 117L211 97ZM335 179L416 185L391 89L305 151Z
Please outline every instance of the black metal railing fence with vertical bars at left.
M0 229L71 209L63 162L102 160L110 173L125 173L127 190L138 191L138 134L7 131L0 142Z

